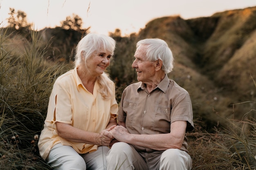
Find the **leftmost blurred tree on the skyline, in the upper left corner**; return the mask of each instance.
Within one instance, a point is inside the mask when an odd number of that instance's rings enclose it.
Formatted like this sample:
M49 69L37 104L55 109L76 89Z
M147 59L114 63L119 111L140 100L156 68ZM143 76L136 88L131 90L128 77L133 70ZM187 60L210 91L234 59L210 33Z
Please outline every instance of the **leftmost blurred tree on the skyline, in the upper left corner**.
M14 8L9 8L10 12L8 13L10 15L8 19L8 26L15 28L16 30L20 30L21 28L30 26L30 24L27 22L27 14L24 11L18 10L15 11Z

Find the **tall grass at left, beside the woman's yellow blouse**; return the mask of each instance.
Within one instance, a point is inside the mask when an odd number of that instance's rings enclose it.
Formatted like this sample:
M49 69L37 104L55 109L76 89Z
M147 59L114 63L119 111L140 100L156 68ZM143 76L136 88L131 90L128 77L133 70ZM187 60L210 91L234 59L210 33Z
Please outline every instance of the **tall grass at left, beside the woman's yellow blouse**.
M38 155L37 136L52 85L65 65L45 61L47 45L42 48L37 31L29 33L28 40L0 28L1 169L49 169ZM13 47L15 41L22 45Z

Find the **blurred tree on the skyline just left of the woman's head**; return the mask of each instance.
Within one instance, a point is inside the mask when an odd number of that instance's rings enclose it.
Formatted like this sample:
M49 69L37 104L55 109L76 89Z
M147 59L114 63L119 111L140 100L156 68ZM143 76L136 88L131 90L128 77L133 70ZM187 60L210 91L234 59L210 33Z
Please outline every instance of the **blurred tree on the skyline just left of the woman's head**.
M74 14L73 13L73 16L68 16L66 17L66 20L65 21L62 21L61 22L61 28L64 28L64 29L73 29L73 30L76 30L76 31L80 31L81 30L81 27L82 27L82 19L81 17L79 17L78 15Z

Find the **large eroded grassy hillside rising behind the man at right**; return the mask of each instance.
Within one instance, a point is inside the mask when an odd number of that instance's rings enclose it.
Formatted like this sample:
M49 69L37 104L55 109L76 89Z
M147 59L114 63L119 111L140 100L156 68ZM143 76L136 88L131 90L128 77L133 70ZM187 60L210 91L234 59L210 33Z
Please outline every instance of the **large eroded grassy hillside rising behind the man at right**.
M191 94L195 118L213 125L220 116L240 119L255 109L256 7L189 20L157 18L140 31L144 38L168 42L175 57L169 77Z

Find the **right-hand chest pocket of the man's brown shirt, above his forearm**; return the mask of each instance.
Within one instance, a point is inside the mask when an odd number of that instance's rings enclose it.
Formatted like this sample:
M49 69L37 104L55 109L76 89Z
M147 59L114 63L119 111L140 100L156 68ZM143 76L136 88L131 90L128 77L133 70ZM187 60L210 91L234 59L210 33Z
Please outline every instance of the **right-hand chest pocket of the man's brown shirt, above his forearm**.
M156 133L170 133L171 129L171 107L158 106L154 119L154 130Z

